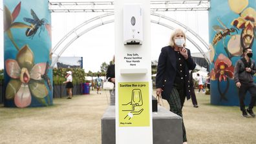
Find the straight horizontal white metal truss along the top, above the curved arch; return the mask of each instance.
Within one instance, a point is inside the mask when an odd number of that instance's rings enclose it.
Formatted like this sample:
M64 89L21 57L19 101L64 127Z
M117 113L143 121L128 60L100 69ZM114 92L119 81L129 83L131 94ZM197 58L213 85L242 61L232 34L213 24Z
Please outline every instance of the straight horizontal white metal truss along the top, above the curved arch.
M50 12L113 12L114 1L48 0ZM151 0L152 12L209 10L210 0Z

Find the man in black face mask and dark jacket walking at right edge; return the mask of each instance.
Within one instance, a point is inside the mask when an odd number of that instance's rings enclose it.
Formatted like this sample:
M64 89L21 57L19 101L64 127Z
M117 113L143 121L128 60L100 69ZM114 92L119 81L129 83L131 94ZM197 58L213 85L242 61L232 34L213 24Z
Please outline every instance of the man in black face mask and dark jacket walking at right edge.
M240 110L242 111L242 116L246 118L248 117L248 113L255 118L253 107L256 101L256 86L253 82L253 74L256 72L256 66L255 61L251 59L252 56L253 52L251 48L244 49L242 58L235 63L234 72L235 85L239 91ZM247 91L251 94L251 101L249 107L245 109L244 98Z

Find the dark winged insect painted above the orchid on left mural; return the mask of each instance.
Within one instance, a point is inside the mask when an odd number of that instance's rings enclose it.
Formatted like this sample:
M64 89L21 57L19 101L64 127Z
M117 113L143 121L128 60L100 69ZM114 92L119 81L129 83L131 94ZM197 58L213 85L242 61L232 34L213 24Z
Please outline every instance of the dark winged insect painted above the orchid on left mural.
M24 21L30 23L30 28L27 29L26 36L33 38L39 28L40 28L40 32L39 32L38 36L40 36L40 33L42 30L45 31L45 24L47 23L47 19L43 18L40 20L37 17L34 10L31 9L30 12L31 12L33 19L30 19L27 17L24 17L23 19L24 19Z

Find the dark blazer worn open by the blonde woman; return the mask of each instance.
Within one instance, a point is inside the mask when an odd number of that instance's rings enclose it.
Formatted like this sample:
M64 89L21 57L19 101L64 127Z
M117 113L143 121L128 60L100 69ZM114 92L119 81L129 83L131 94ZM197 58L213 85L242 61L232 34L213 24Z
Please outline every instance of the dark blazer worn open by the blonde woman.
M186 48L187 49L187 48ZM190 50L187 49L188 58L185 60L185 85L186 85L186 97L190 98L189 94L189 70L193 70L196 67L193 61ZM162 98L169 99L171 90L173 89L173 83L176 76L176 55L175 50L171 46L165 46L162 48L157 65L156 74L156 88L162 88ZM193 83L193 81L192 81Z

